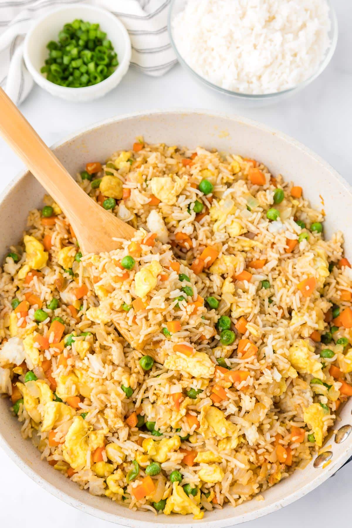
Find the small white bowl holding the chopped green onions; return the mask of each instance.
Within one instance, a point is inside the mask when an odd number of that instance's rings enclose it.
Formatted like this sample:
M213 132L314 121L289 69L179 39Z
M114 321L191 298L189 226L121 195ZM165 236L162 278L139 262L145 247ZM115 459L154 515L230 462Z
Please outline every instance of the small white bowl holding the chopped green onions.
M100 29L107 33L107 38L117 53L119 65L110 77L98 84L69 88L48 81L40 70L49 56L46 44L51 40L57 41L63 25L73 22L76 18L84 22L100 24ZM131 60L131 41L126 27L109 11L99 7L74 4L51 11L37 20L26 35L23 55L28 71L41 88L67 101L85 102L104 96L125 76Z

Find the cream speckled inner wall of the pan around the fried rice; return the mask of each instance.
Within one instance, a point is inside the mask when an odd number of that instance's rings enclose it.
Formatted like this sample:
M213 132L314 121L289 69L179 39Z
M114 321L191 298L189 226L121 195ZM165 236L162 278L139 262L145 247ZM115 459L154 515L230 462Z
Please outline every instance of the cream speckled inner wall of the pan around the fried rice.
M74 175L91 159L103 161L114 150L130 148L137 135L143 135L148 143L187 145L191 148L201 145L260 159L274 175L281 173L286 180L301 185L313 206L324 208L327 236L338 229L343 231L346 255L352 257L352 189L349 184L300 143L254 121L206 111L155 111L109 119L54 145L53 150ZM43 188L33 176L24 173L17 176L0 196L1 258L9 244L21 239L27 212L41 204L43 194ZM14 201L17 205L16 218L13 215ZM340 421L336 423L336 431L339 430L337 436L333 433L326 441L323 450L329 452L318 460L312 460L305 470L296 470L291 477L273 486L264 493L263 501L253 499L237 508L227 506L223 510L214 510L207 513L202 521L193 521L190 515L156 517L150 512L132 512L104 497L92 496L53 470L40 460L40 453L31 442L22 439L19 424L8 407L7 399L0 399L0 446L18 467L41 487L79 510L136 528L151 528L156 524L160 528L170 524L188 528L199 524L208 528L223 528L252 520L302 497L334 474L352 455L351 427L348 427L352 425L350 398L341 409Z

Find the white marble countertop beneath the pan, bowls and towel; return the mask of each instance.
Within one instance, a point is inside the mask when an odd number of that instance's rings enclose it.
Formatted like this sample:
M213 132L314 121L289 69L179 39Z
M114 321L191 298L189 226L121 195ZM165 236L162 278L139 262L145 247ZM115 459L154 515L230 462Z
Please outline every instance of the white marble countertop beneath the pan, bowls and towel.
M290 99L264 108L239 108L233 99L208 90L177 65L162 78L130 70L103 99L74 104L55 99L35 87L21 111L48 145L84 126L108 117L149 109L206 108L239 114L280 129L324 157L352 184L352 3L334 2L339 20L337 50L327 70ZM0 191L22 170L15 154L0 140ZM307 182L309 185L309 182ZM14 212L16 204L14 204ZM338 525L350 518L350 472L345 466L309 495L283 510L251 521L248 528L296 528ZM108 523L83 514L46 493L24 475L0 449L0 525L34 528L108 528ZM332 504L334 505L333 507ZM327 507L327 505L329 507Z

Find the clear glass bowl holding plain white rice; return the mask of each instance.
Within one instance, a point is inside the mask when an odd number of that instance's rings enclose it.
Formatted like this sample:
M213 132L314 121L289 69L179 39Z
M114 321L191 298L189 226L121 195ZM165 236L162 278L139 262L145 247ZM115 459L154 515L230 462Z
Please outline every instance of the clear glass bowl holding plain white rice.
M179 63L188 71L190 72L195 79L198 82L201 82L202 84L205 84L206 86L212 88L213 90L225 93L227 96L231 96L233 98L237 99L237 102L240 103L250 103L251 105L255 105L255 103L259 103L260 105L265 105L266 103L270 102L276 102L280 99L284 99L286 97L289 97L290 95L293 95L293 93L298 92L299 90L302 90L302 88L305 88L310 84L313 80L315 80L320 73L322 73L327 65L329 64L332 55L334 55L336 44L337 44L337 37L338 37L338 24L337 24L337 17L334 10L334 7L332 6L331 0L326 0L327 4L329 6L329 16L331 21L331 27L329 31L329 39L330 39L330 45L328 50L325 53L324 58L322 59L321 63L319 64L319 67L317 70L305 81L300 82L296 86L293 86L292 88L288 88L287 90L282 90L280 92L273 92L273 93L261 93L261 94L253 94L253 93L241 93L241 92L235 92L232 90L226 90L225 88L222 88L221 86L217 86L217 84L213 84L209 80L205 79L198 73L196 73L193 68L183 58L183 56L179 53L175 40L173 35L173 20L174 17L180 12L183 11L184 6L186 4L187 0L172 0L170 3L170 8L168 12L168 18L167 18L167 29L169 32L170 41L172 43L172 46L174 48L174 51L176 53L177 59Z

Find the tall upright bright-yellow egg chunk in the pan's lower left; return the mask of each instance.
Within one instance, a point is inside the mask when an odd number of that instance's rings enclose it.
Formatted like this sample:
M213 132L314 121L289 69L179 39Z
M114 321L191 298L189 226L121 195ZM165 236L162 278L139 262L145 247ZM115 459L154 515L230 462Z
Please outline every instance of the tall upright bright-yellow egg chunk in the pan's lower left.
M65 437L63 458L76 471L83 469L87 462L88 431L88 423L76 416Z

